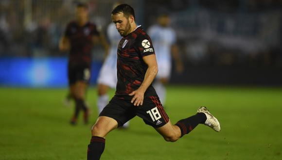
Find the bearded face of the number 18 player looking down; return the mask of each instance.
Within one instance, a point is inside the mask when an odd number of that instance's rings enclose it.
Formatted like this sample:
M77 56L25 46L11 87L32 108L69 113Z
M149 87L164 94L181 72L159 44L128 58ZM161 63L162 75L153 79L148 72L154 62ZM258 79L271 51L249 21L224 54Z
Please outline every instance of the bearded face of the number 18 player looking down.
M129 19L126 18L123 13L112 15L112 21L116 24L116 28L121 36L126 36L129 34L131 26Z

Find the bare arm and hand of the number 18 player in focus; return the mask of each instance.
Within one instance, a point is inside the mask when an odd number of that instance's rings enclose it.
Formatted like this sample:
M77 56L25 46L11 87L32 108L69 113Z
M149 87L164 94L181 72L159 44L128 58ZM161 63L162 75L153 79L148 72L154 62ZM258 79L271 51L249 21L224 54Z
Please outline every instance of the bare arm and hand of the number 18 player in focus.
M158 64L155 54L144 56L143 60L148 65L144 80L137 90L129 94L129 96L133 96L131 103L134 103L134 106L143 105L144 93L158 73Z

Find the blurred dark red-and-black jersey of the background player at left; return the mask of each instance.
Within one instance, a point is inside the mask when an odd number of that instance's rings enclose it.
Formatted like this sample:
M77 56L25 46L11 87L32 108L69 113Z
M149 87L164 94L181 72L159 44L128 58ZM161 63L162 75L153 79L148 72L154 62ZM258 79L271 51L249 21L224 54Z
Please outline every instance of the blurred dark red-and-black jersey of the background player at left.
M93 35L99 35L96 25L86 23L79 26L77 22L72 21L67 25L65 36L70 39L71 50L69 63L72 65L80 65L91 63L91 50L93 48Z

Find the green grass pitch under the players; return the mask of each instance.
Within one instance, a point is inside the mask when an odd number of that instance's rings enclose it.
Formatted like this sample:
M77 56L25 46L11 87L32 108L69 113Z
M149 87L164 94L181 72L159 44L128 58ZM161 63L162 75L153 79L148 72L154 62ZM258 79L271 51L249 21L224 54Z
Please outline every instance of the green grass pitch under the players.
M93 123L95 91L88 91ZM91 124L69 125L66 92L0 88L0 160L86 160ZM199 125L168 143L135 117L129 129L108 134L101 160L282 160L282 88L170 86L167 96L173 123L205 105L222 131Z

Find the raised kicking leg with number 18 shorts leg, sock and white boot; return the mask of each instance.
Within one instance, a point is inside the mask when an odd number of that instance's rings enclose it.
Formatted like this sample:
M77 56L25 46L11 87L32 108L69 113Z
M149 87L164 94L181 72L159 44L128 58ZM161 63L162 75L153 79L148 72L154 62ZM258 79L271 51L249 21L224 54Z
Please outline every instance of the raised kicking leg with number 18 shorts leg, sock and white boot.
M172 125L158 96L144 98L143 105L137 110L137 115L146 124L154 127L169 142L177 141L183 135L191 132L198 124L205 124L215 131L220 131L219 122L205 107L200 107L195 115L179 120Z

